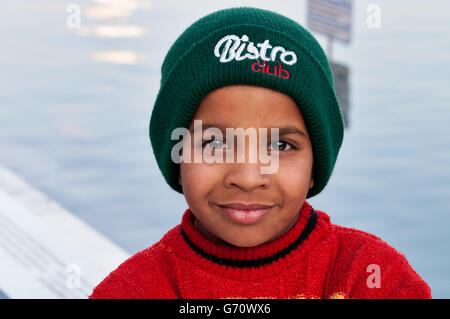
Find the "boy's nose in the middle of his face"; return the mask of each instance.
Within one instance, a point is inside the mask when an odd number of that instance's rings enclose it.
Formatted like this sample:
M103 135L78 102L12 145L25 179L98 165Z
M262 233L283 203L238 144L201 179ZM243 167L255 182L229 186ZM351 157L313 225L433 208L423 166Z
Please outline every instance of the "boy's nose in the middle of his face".
M232 163L224 177L224 185L250 192L257 188L269 188L270 178L270 174L261 174L259 163Z

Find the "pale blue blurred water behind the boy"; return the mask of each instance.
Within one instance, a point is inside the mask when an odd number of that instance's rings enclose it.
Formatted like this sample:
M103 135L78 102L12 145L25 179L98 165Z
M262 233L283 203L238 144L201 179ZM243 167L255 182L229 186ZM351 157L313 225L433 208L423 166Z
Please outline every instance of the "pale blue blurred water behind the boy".
M188 25L238 5L306 25L306 1L1 1L0 163L130 254L152 245L187 208L148 138L161 63ZM449 12L447 0L354 1L352 43L333 46L350 70L349 125L309 200L405 254L435 298L450 297Z

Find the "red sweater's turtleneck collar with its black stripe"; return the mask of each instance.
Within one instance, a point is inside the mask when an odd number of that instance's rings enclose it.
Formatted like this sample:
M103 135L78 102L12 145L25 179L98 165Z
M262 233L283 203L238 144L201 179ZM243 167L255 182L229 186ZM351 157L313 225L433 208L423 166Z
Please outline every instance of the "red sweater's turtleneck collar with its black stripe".
M317 213L305 201L296 224L285 234L257 247L242 248L215 243L206 238L194 226L194 215L187 209L183 215L180 233L197 255L213 264L227 268L259 268L292 254L310 237L317 226L317 220Z

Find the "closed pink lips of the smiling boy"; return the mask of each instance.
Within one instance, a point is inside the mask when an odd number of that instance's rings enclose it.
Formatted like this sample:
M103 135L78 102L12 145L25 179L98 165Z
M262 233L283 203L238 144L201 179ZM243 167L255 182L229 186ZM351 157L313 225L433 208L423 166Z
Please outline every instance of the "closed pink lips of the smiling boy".
M252 225L261 221L276 205L258 203L217 204L225 215L238 224Z

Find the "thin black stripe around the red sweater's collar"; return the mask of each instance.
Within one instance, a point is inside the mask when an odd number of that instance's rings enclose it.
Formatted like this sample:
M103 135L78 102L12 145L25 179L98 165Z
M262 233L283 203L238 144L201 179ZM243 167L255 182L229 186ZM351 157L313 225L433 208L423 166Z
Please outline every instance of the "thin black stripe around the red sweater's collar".
M264 265L268 265L270 263L273 263L277 261L278 259L286 256L291 251L293 251L295 248L297 248L303 241L305 241L308 236L311 234L311 232L314 230L317 224L317 213L312 209L311 207L311 215L309 216L308 223L305 226L305 229L301 232L301 234L297 237L296 240L294 240L292 243L290 243L287 247L285 247L282 250L277 251L275 254L267 257L262 258L256 258L256 259L246 259L246 260L240 260L240 259L227 259L227 258L220 258L215 255L211 255L195 245L186 235L186 233L183 230L183 227L180 228L181 235L183 236L186 243L198 254L200 254L202 257L212 261L213 263L224 265L224 266L231 266L231 267L238 267L238 268L248 268L248 267L260 267Z

